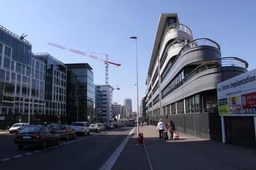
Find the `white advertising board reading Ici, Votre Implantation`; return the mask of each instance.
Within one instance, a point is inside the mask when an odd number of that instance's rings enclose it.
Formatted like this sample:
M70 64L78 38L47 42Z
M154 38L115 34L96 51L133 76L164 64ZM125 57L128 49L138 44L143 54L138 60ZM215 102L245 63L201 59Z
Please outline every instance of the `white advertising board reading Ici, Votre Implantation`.
M220 116L256 116L256 69L217 84Z

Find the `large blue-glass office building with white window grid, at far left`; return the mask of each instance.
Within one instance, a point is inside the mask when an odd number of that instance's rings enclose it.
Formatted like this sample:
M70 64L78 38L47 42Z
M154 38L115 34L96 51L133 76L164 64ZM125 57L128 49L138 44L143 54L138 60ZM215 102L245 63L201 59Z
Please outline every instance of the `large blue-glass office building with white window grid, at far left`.
M66 67L48 53L33 54L31 48L24 37L0 26L0 121L3 127L19 120L28 122L29 112L31 124L53 121L51 115L65 114ZM54 84L57 79L58 83Z

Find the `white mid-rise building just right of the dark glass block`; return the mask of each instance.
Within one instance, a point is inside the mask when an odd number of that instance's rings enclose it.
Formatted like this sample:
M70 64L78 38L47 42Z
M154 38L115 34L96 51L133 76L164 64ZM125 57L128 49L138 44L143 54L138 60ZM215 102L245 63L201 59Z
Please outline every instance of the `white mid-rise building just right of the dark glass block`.
M110 85L95 85L97 89L102 91L102 120L109 122L112 119L112 100Z

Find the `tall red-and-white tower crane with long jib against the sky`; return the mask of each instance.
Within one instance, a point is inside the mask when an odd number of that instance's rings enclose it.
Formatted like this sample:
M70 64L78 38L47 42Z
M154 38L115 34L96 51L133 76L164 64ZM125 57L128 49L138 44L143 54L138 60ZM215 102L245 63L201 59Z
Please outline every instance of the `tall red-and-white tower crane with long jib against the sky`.
M87 56L87 57L91 57L91 58L94 58L94 59L103 61L103 62L105 63L105 66L106 66L106 85L108 84L108 63L114 64L114 65L116 65L117 67L118 67L118 66L121 66L121 64L109 62L107 55L106 55L106 60L104 60L104 59L102 59L102 58L99 58L99 57L95 57L95 56L86 54L85 52L77 51L77 50L73 50L73 49L69 49L69 48L67 48L67 47L64 47L64 46L61 46L61 45L58 45L58 44L54 44L54 43L52 43L52 42L49 42L48 44L49 44L49 45L52 45L52 46L54 46L54 47L58 47L58 48L60 48L60 49L68 50L68 51L71 51L71 52L75 52L75 53L78 53L78 54L81 54L81 55L84 55L84 56ZM118 89L118 90L119 90L119 89Z

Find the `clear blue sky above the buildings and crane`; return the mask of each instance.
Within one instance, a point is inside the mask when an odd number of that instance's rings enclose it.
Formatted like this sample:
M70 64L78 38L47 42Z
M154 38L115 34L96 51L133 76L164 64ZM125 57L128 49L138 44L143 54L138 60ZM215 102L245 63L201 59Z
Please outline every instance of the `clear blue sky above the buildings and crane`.
M105 84L100 60L48 45L108 55L108 84L113 102L132 99L137 111L136 45L139 105L146 92L146 76L161 13L177 13L193 39L208 38L220 45L222 57L238 57L256 68L256 1L254 0L11 0L1 1L0 25L27 35L33 53L47 52L63 63L88 63L94 84ZM106 59L105 55L90 55Z

